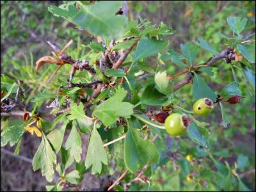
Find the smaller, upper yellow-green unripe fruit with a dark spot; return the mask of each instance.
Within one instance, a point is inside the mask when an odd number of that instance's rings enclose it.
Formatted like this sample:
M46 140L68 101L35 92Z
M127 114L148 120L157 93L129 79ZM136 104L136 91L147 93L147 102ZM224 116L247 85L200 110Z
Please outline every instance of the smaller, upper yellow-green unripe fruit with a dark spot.
M201 98L196 100L193 105L193 111L198 116L206 116L213 109L214 105L211 99Z

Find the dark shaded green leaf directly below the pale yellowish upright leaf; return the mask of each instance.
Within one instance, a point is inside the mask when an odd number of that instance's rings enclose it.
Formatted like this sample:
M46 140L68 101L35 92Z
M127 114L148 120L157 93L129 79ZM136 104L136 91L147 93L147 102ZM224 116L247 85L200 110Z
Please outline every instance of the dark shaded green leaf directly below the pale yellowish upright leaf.
M145 88L144 92L141 95L140 102L136 104L146 104L150 106L159 106L164 104L168 98L163 94L157 91L157 88L154 84L148 84Z

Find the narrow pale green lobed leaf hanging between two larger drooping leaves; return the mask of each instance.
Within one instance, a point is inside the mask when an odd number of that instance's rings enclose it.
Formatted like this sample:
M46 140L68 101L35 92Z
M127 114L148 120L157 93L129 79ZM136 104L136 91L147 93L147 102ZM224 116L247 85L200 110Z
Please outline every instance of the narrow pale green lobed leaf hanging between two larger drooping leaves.
M76 121L73 121L71 132L65 143L65 148L67 150L70 149L70 156L74 157L76 162L79 162L82 153L82 139L76 127Z

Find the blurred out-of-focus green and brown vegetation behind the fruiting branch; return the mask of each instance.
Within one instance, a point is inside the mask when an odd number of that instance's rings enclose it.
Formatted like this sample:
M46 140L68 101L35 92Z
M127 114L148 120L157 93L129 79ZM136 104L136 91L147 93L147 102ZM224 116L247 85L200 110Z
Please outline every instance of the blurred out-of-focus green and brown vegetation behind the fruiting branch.
M68 48L70 54L75 54L76 50L81 51L83 46L80 45L88 45L91 40L89 36L69 29L67 21L54 17L47 11L48 6L52 4L58 6L62 3L63 1L1 1L1 74L19 77L23 81L27 104L38 90L44 88L47 78L55 69L49 66L44 74L35 74L35 61L41 56L51 55L51 49L45 40L57 42L62 47L67 44L68 40L74 40ZM221 51L225 45L216 33L232 35L227 25L227 17L230 15L248 19L243 35L250 35L255 31L255 1L128 1L128 6L130 19L142 17L152 21L152 24L158 25L163 21L172 27L176 33L167 39L170 40L170 48L178 52L180 52L180 44L198 40L200 36ZM202 63L209 57L211 53L201 51L198 55L198 62ZM152 60L152 65L155 61ZM174 65L163 67L166 67L170 74L175 74L178 70ZM65 67L61 72L64 70ZM220 109L216 108L215 113L208 117L207 122L211 123L210 140L214 143L212 152L218 157L218 161L222 163L227 161L230 166L234 166L239 159L242 163L239 165L241 166L239 169L241 179L246 186L255 190L255 92L248 93L246 82L241 81L243 75L238 70L235 70L235 73L239 79L241 91L246 97L240 104L228 106L225 109L231 122L228 129L224 129L221 125ZM206 82L216 90L221 90L226 84L234 81L230 65L222 65L221 68L214 69L214 77L204 77L207 79ZM174 99L173 102L178 103L183 98L192 100L191 92L191 86L184 86L177 92L180 97ZM184 104L184 108L191 108L189 105L193 102L188 103ZM39 142L29 134L25 134L20 147L20 155L32 159ZM188 145L182 144L182 141L179 142L177 150L193 154ZM13 152L14 148L5 147L5 150ZM200 152L200 148L196 152ZM204 157L204 154L198 156ZM204 163L208 168L213 166L211 161L206 159ZM175 172L172 172L173 166L175 165L170 161L163 166L163 169L156 171L154 175L156 182L152 181L151 189L158 191L173 188L191 189L189 184L173 186L177 183L175 180L177 178L173 175ZM200 165L196 164L191 169L196 174L199 168ZM99 178L90 173L86 173L84 177L86 179L83 180L82 186L86 190L100 188ZM211 182L211 177L211 172L205 171L205 180L210 190L228 189L232 191L236 189L232 186L234 178L225 184L218 182L217 186L214 186L216 182ZM221 178L217 177L217 179ZM45 184L45 178L42 177L40 171L34 173L31 164L1 150L1 191L40 191L45 190ZM134 184L131 189L144 189L140 187Z

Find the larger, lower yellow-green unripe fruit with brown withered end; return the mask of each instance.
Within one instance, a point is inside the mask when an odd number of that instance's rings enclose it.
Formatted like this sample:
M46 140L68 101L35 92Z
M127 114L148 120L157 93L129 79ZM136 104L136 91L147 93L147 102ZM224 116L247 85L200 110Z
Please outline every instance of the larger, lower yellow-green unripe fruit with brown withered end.
M189 118L186 115L181 115L179 113L169 115L164 122L164 127L170 136L180 136L181 134L184 134L188 125Z

